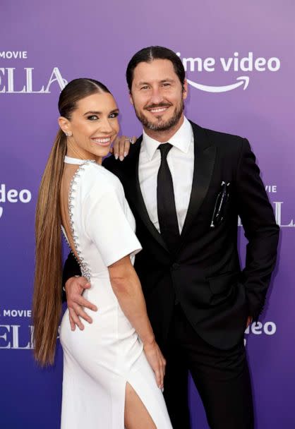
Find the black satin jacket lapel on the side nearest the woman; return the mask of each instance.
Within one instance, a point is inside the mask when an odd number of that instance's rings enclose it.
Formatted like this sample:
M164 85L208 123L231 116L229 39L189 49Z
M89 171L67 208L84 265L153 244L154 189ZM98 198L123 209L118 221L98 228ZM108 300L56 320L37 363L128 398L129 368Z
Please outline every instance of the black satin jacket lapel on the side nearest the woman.
M133 162L135 164L135 168L131 169L132 174L128 176L128 196L132 201L132 205L134 209L138 212L138 217L143 221L146 228L150 232L150 234L155 238L155 240L168 252L167 246L157 228L155 228L154 224L150 220L148 215L147 207L145 207L145 202L143 200L143 194L140 190L140 183L138 179L138 162L139 162L139 154L140 154L140 145L143 138L142 136L138 139L136 144L136 151L133 152ZM125 162L125 161L124 161ZM134 165L133 164L133 165Z

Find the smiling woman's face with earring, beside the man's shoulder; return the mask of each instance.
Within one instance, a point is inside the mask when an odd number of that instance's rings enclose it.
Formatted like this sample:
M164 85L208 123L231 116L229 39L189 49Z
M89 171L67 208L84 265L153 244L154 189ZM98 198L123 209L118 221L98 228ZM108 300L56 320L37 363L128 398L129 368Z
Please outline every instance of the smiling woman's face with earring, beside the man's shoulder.
M70 131L68 156L99 160L119 133L119 109L112 94L97 92L77 103L71 119L59 118L63 131Z

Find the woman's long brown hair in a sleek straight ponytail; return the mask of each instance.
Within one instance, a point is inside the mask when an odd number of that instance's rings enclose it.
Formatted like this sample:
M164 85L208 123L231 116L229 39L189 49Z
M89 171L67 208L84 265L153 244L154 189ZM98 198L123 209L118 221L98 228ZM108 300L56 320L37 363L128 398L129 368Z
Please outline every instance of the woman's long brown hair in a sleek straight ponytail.
M109 92L97 80L71 80L59 96L59 114L71 119L77 102L95 92ZM66 136L59 130L49 155L36 207L35 282L32 302L35 358L41 365L54 363L61 317L61 213L59 193L66 155Z

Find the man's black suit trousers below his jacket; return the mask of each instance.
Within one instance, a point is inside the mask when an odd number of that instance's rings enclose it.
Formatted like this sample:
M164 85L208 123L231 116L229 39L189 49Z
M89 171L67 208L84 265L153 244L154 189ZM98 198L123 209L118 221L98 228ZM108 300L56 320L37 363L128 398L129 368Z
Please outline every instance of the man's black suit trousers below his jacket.
M243 342L229 350L207 344L175 306L169 341L164 398L174 429L189 429L188 371L203 401L211 429L253 429L251 381Z

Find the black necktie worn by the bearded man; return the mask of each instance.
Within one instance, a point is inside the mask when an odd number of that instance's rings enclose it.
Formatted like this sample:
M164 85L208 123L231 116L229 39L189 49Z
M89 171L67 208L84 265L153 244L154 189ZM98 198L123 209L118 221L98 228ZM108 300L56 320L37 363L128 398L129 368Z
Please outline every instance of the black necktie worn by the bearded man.
M162 143L158 149L161 152L161 164L157 176L157 212L159 230L171 253L179 242L179 224L177 221L174 189L171 172L167 164L167 155L172 145Z

